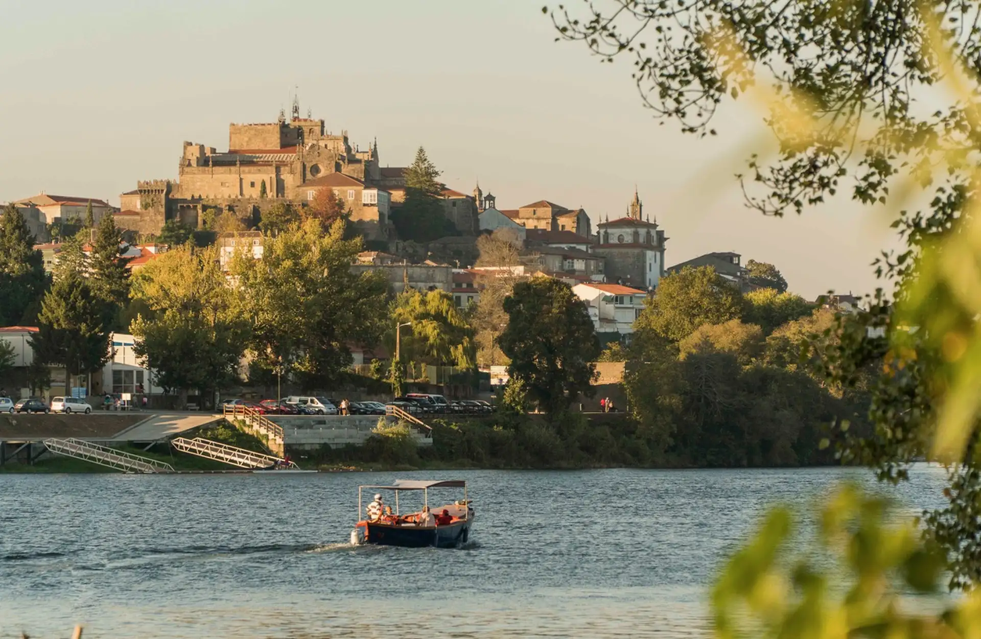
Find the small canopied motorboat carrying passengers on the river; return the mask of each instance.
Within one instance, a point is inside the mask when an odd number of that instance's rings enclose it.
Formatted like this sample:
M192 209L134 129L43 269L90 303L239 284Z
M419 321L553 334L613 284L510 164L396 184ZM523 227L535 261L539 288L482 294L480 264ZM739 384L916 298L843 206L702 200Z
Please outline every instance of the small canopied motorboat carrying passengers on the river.
M433 488L462 488L463 499L442 506L431 507L434 516L439 516L435 525L421 523L422 509L402 515L400 512L399 495L405 491L413 491L418 495L422 492L422 506L430 507L429 491ZM387 505L383 515L377 518L362 518L354 524L351 531L351 543L378 544L381 546L402 546L405 548L459 548L470 539L470 526L474 521L474 509L467 499L467 482L462 479L443 481L420 481L416 479L398 479L390 486L358 486L358 517L366 514L362 508L362 492L364 490L392 491L394 493L394 510ZM384 500L384 498L383 498ZM403 499L404 501L404 499ZM415 500L414 500L415 501Z

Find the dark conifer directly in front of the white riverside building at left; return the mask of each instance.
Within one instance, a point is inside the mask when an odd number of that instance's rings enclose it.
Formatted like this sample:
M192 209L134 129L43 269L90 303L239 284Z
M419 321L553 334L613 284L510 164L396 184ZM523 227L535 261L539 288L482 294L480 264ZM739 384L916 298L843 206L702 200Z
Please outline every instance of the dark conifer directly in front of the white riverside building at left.
M37 332L30 337L34 358L64 367L66 381L102 369L109 360L107 304L77 272L57 277L44 296Z

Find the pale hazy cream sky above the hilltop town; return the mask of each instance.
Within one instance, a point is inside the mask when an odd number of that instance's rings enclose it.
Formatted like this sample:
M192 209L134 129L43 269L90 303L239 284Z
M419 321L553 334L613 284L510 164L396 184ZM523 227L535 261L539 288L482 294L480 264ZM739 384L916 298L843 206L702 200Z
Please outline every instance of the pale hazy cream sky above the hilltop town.
M603 0L598 0L601 4ZM808 299L871 292L895 245L883 211L839 197L798 217L744 206L734 178L770 139L756 105L699 139L645 110L625 58L554 42L542 0L4 0L0 202L108 199L176 179L183 140L228 148L229 123L274 122L296 92L382 166L420 145L451 188L513 209L546 199L597 221L638 189L668 266L735 251Z

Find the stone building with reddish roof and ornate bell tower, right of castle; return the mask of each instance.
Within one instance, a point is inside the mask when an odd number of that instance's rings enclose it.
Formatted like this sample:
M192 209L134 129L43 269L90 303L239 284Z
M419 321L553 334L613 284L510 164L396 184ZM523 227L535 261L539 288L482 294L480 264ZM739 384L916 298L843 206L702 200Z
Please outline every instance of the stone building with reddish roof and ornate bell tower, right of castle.
M652 290L664 274L667 237L657 221L643 219L644 205L637 191L626 218L596 224L594 253L606 259L606 281Z

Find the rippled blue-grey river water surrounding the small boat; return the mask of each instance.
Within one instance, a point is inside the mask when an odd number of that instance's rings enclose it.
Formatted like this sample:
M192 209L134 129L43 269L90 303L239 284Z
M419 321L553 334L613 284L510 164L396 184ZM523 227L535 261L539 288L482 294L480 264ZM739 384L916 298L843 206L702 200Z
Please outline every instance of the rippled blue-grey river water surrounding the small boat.
M455 477L468 548L347 545L358 484ZM843 468L0 474L0 638L704 636L706 588L766 507L847 477L874 485ZM917 467L887 494L918 512L942 482Z

